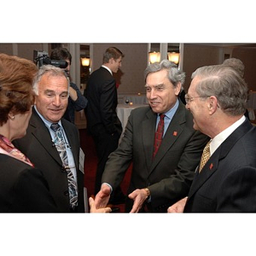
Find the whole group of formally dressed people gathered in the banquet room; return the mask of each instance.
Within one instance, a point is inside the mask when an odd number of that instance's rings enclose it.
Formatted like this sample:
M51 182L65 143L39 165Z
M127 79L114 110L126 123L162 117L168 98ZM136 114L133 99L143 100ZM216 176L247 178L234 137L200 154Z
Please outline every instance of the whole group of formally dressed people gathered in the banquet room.
M171 61L150 64L148 106L122 127L113 73L124 56L106 49L82 95L67 49L51 53L67 61L63 69L0 54L0 212L85 211L74 124L82 109L98 157L90 212L120 203L125 212L256 212L256 127L242 62L197 68L183 98L185 73ZM126 193L120 183L131 163Z

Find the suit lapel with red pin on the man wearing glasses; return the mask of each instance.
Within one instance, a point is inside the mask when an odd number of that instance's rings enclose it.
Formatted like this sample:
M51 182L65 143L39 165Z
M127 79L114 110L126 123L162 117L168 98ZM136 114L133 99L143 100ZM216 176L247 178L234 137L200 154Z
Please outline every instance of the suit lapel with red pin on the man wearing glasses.
M189 190L189 197L195 194L195 192L201 188L201 186L207 182L207 179L212 176L214 172L218 170L218 164L220 160L224 160L227 154L229 154L231 148L234 147L236 142L244 136L247 131L252 128L252 125L246 120L235 131L233 131L229 137L217 148L212 154L207 164L201 170L201 173L196 172L194 181Z

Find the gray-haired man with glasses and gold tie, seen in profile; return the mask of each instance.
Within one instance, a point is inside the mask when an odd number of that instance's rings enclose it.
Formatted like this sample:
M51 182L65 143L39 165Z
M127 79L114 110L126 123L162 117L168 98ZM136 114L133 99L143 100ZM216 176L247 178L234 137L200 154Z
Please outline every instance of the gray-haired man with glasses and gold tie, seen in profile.
M256 127L244 116L247 84L224 65L201 67L192 79L186 106L195 129L211 137L210 154L188 197L168 212L256 212Z

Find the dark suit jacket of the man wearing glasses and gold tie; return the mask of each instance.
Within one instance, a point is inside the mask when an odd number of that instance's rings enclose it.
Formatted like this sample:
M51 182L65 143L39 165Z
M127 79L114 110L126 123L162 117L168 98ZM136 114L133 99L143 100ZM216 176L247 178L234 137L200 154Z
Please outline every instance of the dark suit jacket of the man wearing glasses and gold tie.
M256 127L246 120L196 172L184 212L256 212Z

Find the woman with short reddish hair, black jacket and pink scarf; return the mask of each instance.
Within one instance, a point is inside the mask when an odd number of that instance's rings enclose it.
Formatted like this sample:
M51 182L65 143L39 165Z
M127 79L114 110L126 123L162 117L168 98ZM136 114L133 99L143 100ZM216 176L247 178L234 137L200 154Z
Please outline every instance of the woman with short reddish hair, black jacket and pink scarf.
M32 61L0 54L0 212L58 211L43 172L11 143L26 135L37 71Z

